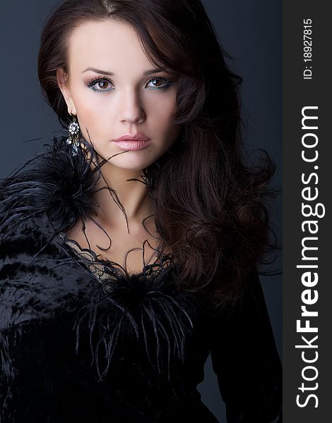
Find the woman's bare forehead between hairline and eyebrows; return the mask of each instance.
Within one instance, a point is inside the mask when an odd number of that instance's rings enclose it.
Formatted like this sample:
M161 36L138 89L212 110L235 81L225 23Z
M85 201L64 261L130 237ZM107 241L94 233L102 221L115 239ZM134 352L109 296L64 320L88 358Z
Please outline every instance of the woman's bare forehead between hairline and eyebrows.
M68 59L72 71L93 66L117 73L150 64L133 27L110 19L76 27L69 37Z

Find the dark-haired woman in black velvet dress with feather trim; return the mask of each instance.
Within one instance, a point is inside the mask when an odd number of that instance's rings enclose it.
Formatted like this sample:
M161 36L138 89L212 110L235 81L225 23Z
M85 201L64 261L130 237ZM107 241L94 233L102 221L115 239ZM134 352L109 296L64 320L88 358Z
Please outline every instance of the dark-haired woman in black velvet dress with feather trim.
M38 73L69 130L0 183L1 422L217 422L209 353L228 422L281 422L273 165L246 164L224 56L198 0L52 11Z

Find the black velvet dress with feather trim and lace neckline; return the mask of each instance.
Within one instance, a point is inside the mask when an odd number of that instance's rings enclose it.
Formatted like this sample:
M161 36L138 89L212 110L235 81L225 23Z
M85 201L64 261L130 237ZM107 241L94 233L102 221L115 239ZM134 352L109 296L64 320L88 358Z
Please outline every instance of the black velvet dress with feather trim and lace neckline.
M92 214L93 186L63 137L0 181L0 422L218 422L196 388L209 353L227 422L281 422L256 270L216 312L166 258L139 274L98 260L64 232Z

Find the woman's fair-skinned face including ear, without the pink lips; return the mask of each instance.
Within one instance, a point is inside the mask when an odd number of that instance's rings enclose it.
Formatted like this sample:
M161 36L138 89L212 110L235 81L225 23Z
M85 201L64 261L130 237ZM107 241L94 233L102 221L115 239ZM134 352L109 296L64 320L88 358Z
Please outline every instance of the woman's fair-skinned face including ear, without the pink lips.
M104 20L76 27L69 38L68 66L67 85L62 70L57 71L68 111L77 115L83 137L89 141L90 135L104 159L124 152L109 159L110 164L141 170L179 137L180 125L170 122L176 81L153 71L131 26ZM150 138L142 149L126 151L113 141L136 133Z

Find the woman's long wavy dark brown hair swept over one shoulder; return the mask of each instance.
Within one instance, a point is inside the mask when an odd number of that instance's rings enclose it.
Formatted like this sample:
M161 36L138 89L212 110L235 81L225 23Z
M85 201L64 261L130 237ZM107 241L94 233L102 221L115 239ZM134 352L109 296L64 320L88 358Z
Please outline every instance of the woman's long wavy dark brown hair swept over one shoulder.
M267 208L275 164L263 149L250 163L244 150L242 78L227 66L232 58L199 0L66 0L47 20L38 58L42 92L65 128L70 116L56 72L68 70L69 35L107 19L129 23L148 59L178 81L173 123L183 125L185 142L143 169L160 246L181 264L186 289L204 288L217 302L235 298L276 245Z

